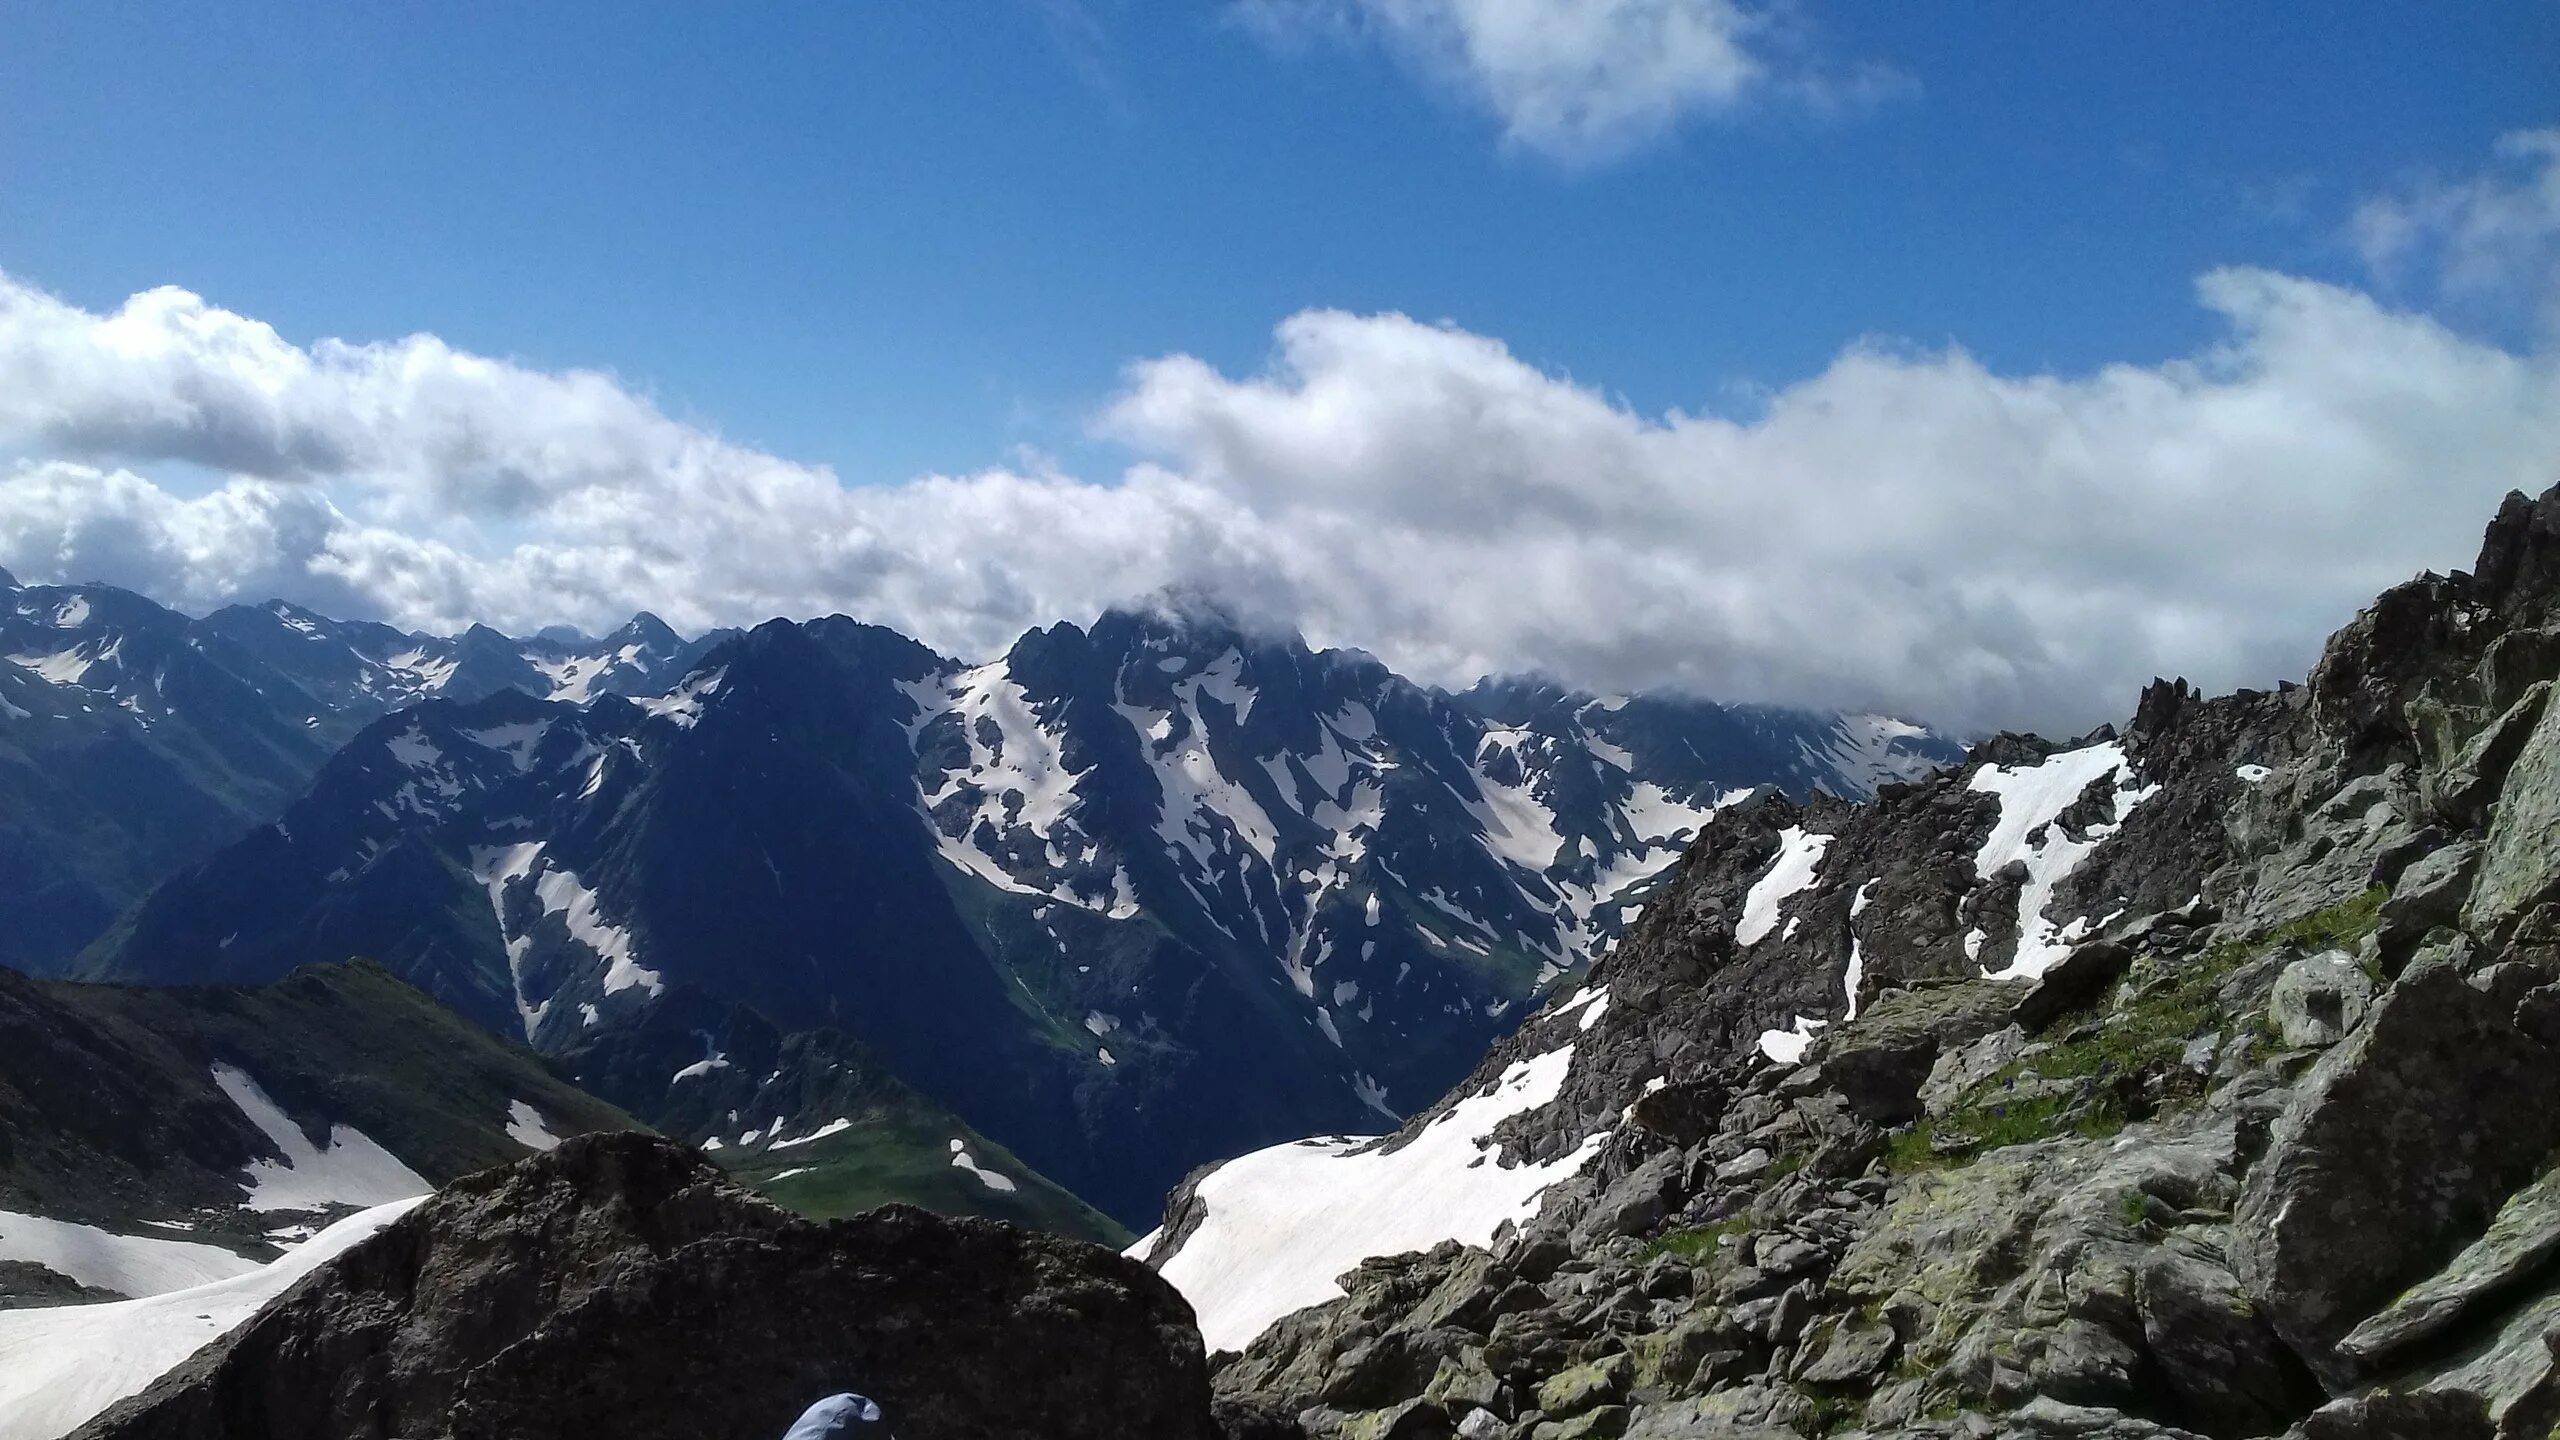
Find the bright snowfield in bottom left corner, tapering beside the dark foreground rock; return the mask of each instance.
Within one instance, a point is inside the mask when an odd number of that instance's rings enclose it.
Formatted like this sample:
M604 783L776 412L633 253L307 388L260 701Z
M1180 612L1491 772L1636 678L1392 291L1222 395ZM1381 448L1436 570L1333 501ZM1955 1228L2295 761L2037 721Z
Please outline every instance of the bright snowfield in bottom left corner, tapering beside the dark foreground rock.
M402 1199L348 1215L279 1261L212 1284L115 1304L0 1312L0 1440L56 1440L79 1430L415 1204Z

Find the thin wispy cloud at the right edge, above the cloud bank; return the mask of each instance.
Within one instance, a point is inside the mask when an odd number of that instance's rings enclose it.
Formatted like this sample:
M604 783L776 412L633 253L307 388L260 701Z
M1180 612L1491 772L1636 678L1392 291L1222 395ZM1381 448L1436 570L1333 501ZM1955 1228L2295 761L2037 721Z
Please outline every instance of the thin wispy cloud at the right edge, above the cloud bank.
M2537 307L2560 333L2560 128L2499 136L2499 167L2358 205L2348 238L2383 282Z

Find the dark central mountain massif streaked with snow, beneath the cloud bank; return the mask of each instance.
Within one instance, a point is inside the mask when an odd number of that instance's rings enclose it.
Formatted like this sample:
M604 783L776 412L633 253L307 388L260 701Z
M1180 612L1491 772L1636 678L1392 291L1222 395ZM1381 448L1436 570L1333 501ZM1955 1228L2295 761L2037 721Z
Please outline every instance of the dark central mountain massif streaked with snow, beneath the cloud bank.
M374 723L82 974L381 956L625 1084L614 1035L653 1007L745 1007L1132 1220L1201 1161L1439 1094L1720 799L1948 753L1874 717L1452 697L1219 623L1106 615L986 666L771 623L658 697ZM676 1086L612 1094L732 1145L832 1120L781 1084L730 1130Z

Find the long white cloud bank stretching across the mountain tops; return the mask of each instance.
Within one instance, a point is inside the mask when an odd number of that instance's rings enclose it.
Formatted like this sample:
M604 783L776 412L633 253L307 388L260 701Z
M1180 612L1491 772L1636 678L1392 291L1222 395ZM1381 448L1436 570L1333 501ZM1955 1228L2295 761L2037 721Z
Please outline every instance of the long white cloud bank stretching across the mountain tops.
M2171 364L1859 343L1751 415L1311 310L1257 374L1132 366L1096 420L1119 477L842 487L604 374L0 279L0 564L417 628L845 610L963 656L1193 589L1434 682L2076 730L2153 674L2301 674L2376 589L2465 564L2499 495L2560 479L2547 354L2271 272L2199 300L2222 338ZM228 479L146 479L166 461Z

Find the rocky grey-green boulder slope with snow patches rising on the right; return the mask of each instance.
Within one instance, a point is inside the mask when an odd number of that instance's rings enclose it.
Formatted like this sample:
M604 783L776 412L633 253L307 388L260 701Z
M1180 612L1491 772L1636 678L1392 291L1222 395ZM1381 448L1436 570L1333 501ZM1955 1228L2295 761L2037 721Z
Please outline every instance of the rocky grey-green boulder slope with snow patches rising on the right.
M1370 1253L1219 1391L1311 1437L2547 1437L2555 589L2560 492L2514 497L2307 687L1723 812L1400 1135L1546 1066L1492 1133L1564 1166L1536 1215Z

